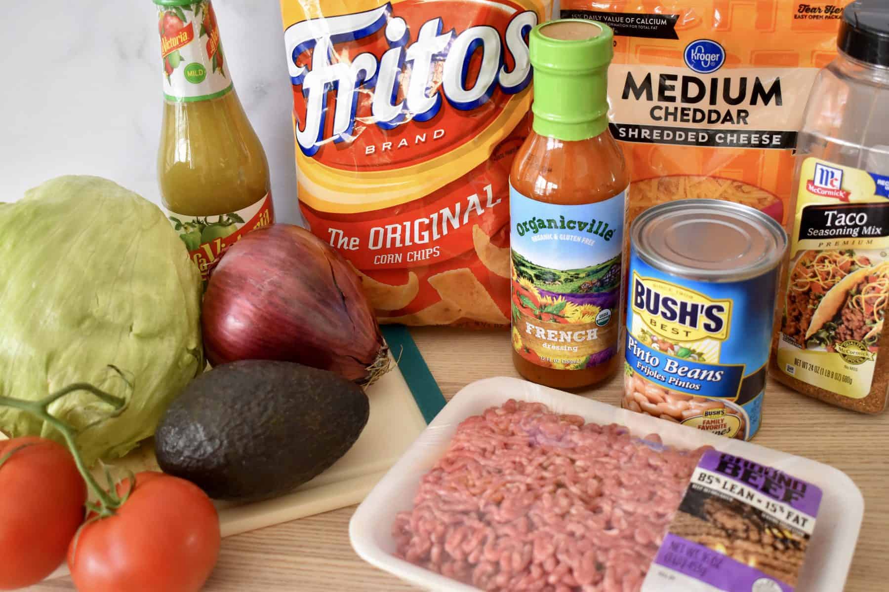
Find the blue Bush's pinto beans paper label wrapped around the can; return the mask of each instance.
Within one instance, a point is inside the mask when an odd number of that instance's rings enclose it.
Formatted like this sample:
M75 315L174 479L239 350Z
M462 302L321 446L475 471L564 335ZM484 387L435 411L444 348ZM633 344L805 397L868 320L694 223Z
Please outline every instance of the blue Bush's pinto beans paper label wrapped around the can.
M726 438L759 429L777 272L690 280L632 249L623 407Z

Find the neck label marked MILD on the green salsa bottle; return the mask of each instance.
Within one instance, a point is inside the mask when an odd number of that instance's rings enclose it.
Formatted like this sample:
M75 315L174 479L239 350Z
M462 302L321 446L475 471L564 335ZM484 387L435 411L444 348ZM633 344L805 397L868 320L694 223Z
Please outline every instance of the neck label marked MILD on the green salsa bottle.
M215 99L231 91L216 13L209 0L157 7L164 64L164 98Z

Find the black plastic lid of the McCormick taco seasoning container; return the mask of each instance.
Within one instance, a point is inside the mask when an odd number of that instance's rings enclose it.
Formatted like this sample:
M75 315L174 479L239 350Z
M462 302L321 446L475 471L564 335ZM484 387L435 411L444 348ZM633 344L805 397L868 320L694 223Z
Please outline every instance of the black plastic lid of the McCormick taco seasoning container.
M853 59L889 67L889 3L855 0L843 11L837 48Z

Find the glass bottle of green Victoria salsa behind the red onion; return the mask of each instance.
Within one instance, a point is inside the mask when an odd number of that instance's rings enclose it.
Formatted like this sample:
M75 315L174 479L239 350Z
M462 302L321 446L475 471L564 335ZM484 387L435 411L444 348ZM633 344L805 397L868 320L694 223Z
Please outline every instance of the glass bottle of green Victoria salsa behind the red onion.
M164 67L161 200L207 279L242 234L273 222L268 162L228 74L210 0L155 0Z

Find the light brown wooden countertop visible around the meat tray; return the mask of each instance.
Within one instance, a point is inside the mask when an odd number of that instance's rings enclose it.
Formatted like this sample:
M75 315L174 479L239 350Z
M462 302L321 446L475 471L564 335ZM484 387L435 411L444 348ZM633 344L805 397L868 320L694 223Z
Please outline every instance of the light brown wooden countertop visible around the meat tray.
M516 376L505 332L436 328L412 330L445 398L480 378ZM587 396L619 405L619 377ZM763 427L755 438L769 446L845 471L864 493L864 524L845 592L889 589L889 414L857 414L770 384ZM353 508L302 518L222 541L207 592L414 590L365 564L348 544ZM74 589L56 580L32 590ZM85 591L84 591L85 592ZM805 592L800 590L799 592ZM840 592L837 590L837 592Z

